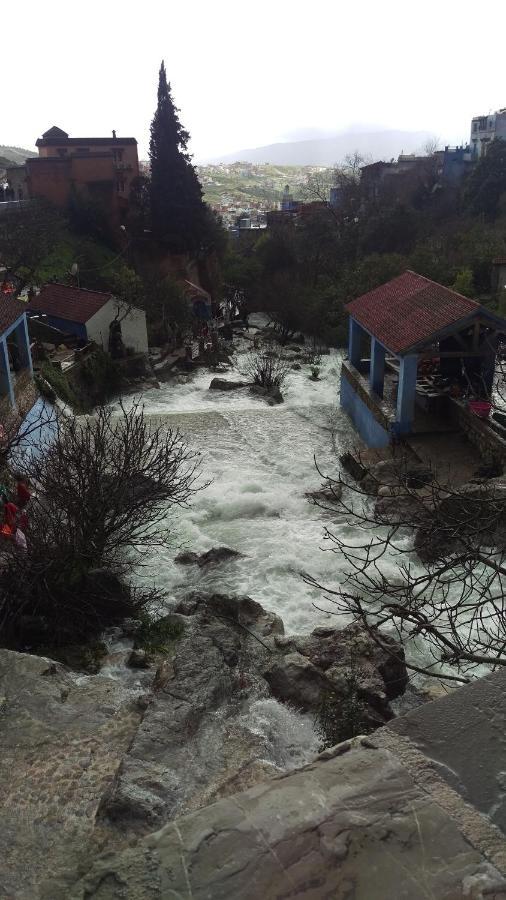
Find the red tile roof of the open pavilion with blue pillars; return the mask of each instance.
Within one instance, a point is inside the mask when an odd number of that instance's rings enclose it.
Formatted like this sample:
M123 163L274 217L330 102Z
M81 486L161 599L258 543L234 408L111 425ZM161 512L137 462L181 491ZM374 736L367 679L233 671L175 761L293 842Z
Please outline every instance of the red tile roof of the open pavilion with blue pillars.
M441 329L465 319L480 309L480 304L407 271L352 300L346 309L388 350L405 353Z

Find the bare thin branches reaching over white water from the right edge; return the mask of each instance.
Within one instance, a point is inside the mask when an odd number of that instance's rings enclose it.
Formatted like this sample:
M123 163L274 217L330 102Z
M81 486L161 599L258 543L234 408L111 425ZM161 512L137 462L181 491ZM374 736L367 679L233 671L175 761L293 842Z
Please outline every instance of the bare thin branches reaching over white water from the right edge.
M427 483L402 459L377 480L376 500L370 482L330 481L345 527L325 530L325 549L341 584L305 576L330 611L351 614L380 645L386 629L432 657L409 662L417 672L466 681L478 666L506 665L506 485L476 478L459 490L436 473Z

